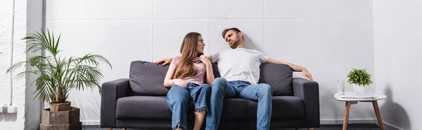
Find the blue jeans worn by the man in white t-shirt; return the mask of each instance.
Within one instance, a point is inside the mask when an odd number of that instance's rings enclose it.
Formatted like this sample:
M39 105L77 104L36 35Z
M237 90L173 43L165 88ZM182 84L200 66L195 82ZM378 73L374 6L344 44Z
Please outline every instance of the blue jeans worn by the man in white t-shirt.
M257 130L269 129L272 108L272 91L269 85L250 85L249 82L241 80L227 82L224 78L216 78L212 82L210 110L206 115L206 130L218 129L224 97L240 97L258 101Z

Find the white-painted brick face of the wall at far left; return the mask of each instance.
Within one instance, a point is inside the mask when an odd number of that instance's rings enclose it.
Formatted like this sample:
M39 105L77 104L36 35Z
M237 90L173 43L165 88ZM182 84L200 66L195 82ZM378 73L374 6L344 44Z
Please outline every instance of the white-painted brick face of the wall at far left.
M13 1L0 1L0 106L10 103L11 75L6 74L6 69L11 63L11 42L13 38L13 62L25 61L23 50L25 44L20 38L26 34L26 1L15 2L15 23L13 21ZM12 35L12 30L14 33ZM19 69L18 71L23 71ZM16 74L16 73L14 73ZM17 108L15 114L0 115L0 129L24 129L25 128L25 80L13 78L13 103Z

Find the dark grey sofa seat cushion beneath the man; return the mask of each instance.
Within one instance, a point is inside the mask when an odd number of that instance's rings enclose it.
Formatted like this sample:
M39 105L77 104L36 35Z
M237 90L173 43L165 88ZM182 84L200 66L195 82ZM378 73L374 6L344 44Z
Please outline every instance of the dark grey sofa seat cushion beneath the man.
M257 101L224 99L221 120L256 120ZM303 119L303 100L296 96L273 96L271 119Z

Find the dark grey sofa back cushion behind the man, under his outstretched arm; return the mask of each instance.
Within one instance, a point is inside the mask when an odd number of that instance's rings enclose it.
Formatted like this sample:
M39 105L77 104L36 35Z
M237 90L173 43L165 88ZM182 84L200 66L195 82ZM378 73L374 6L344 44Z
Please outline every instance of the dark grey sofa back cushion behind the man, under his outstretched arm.
M212 65L215 78L221 77L217 64ZM273 96L293 96L293 71L286 64L261 64L260 80L271 86Z

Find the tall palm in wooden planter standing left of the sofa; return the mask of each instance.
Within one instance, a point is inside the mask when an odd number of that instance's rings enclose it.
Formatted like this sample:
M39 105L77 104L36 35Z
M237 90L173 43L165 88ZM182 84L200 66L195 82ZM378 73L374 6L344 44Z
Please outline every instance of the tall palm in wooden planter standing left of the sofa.
M60 34L61 36L61 34ZM46 55L34 56L25 62L13 64L6 73L17 68L32 66L34 71L18 73L17 78L25 78L27 74L37 75L34 80L39 101L47 101L50 108L42 112L41 129L82 129L79 122L79 108L71 107L68 96L74 89L98 88L101 94L100 81L103 78L99 65L107 64L108 59L91 53L83 57L60 57L58 49L60 36L56 39L50 31L35 32L23 38L27 41L25 53L44 50Z

